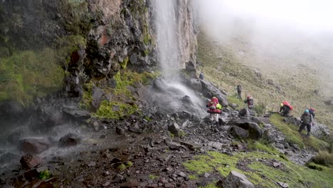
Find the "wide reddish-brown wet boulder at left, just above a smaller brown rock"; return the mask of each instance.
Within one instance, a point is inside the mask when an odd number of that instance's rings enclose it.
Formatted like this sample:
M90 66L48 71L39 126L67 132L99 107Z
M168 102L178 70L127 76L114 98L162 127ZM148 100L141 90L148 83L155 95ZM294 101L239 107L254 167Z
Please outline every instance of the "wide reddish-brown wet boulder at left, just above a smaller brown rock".
M25 138L20 140L19 148L25 153L38 154L51 146L46 138Z

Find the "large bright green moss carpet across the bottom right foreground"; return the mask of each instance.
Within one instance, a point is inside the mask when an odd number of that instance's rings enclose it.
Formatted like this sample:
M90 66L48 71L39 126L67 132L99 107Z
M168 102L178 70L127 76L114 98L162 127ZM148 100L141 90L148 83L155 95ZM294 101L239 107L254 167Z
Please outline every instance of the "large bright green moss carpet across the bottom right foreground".
M237 163L246 161L246 170L237 169ZM271 167L272 162L280 162L280 167ZM262 152L238 152L233 156L219 152L208 152L208 155L195 156L193 160L184 162L184 167L196 174L213 172L217 169L223 177L231 170L245 174L258 187L279 187L276 182L287 182L290 187L330 187L333 183L333 169L322 172L299 166L293 162L282 160L277 155ZM244 168L244 166L242 165ZM302 183L300 183L302 182Z

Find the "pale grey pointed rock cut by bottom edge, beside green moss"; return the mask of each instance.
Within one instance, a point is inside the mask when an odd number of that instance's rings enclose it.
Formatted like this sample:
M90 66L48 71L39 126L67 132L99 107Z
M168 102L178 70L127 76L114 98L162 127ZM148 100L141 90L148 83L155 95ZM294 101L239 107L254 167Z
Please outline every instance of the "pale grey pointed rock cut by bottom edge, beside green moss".
M222 183L222 187L228 188L254 188L253 183L248 181L244 174L232 170Z

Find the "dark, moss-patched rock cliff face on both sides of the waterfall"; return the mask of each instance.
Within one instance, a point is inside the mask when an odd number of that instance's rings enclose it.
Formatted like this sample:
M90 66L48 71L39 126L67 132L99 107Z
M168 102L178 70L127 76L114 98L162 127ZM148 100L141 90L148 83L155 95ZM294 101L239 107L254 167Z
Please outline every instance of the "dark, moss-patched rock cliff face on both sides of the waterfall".
M179 48L182 67L188 61L195 65L191 1L174 2L178 40L173 45ZM47 127L62 122L60 109L69 104L64 102L68 99L74 102L71 106L94 113L101 103L105 109L120 108L127 114L140 108L137 102L119 101L135 101L135 90L126 85L142 84L147 73L158 71L156 14L152 0L0 1L0 119L7 120L4 126L11 127L24 114L20 103L35 106L21 118L34 114L36 120L29 123ZM61 101L43 100L58 90Z

